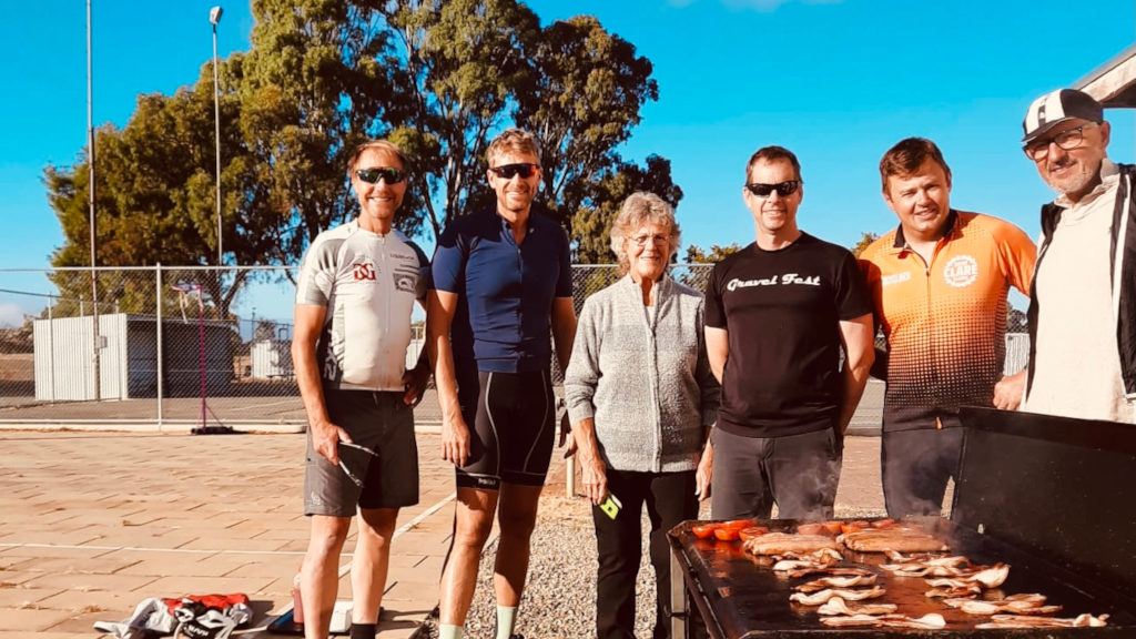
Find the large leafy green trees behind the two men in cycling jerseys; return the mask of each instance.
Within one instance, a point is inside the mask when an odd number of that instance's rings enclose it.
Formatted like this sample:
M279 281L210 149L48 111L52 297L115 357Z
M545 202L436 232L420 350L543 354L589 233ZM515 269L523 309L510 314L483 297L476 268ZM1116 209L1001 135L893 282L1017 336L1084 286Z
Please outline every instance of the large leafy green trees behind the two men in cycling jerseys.
M99 130L99 266L210 265L218 243L226 263L294 264L354 216L348 157L377 136L408 155L395 223L411 235L493 201L485 149L511 125L540 136L543 204L580 224L582 259L603 252L593 235L632 191L682 198L669 161L615 151L659 90L650 61L594 17L542 28L517 0L253 0L252 14L250 49L218 68L222 239L210 60L192 86L141 96L124 128ZM44 169L65 235L56 266L90 265L89 153ZM202 282L222 316L243 277ZM90 294L90 282L68 285L64 297Z

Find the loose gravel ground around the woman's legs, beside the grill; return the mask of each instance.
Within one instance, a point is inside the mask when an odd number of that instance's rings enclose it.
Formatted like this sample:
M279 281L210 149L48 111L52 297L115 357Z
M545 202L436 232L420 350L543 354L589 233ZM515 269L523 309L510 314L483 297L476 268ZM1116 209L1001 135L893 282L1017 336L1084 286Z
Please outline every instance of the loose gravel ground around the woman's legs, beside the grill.
M844 506L837 503L836 517L883 516L879 508ZM709 500L700 518L709 518ZM636 587L636 637L650 637L654 625L654 569L648 554L651 530L644 513L643 559ZM517 614L515 632L526 639L567 639L595 636L595 534L592 513L583 497L567 498L546 489L541 497L528 582ZM493 598L493 562L496 539L486 545L478 569L477 591L466 619L465 637L493 639L496 601ZM431 616L419 637L437 639L437 617Z

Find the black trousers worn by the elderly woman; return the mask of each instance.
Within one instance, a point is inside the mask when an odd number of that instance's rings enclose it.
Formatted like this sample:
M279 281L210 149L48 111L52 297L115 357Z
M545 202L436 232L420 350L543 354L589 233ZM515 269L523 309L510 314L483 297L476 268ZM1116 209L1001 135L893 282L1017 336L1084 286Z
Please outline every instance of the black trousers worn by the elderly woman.
M636 473L608 468L608 491L624 507L610 518L592 507L599 566L595 633L599 639L635 638L635 581L642 558L643 506L651 521L650 553L655 576L654 639L670 637L670 546L667 531L698 517L694 471Z

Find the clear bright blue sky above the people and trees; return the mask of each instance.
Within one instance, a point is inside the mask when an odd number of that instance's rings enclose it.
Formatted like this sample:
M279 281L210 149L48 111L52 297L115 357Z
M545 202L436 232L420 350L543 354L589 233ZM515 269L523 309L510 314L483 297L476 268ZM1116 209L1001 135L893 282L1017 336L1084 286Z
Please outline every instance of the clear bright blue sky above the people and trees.
M212 55L217 0L93 0L95 124L125 125L141 93L192 83ZM248 2L220 1L218 53L248 48ZM44 268L62 243L42 172L86 141L86 3L9 3L0 20L2 268ZM800 224L845 246L884 232L880 155L909 135L938 142L952 205L1005 217L1030 235L1049 189L1019 148L1041 93L1069 85L1131 44L1136 2L1094 0L643 0L528 2L543 23L592 14L654 65L659 101L621 150L673 163L686 197L684 241L745 243L741 185L750 153L783 144L802 163ZM1134 111L1106 111L1110 156L1134 159ZM43 291L42 276L0 271L0 289ZM0 292L0 325L42 301ZM285 309L286 312L286 309Z

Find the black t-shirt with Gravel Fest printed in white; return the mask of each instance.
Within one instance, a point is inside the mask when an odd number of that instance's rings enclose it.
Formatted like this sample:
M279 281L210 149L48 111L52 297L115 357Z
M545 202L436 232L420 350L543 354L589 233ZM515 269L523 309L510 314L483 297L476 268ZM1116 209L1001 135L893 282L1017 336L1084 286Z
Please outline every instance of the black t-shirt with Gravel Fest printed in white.
M833 428L843 392L840 322L868 313L852 254L808 233L776 251L751 243L716 264L705 324L729 337L718 428L743 437Z

